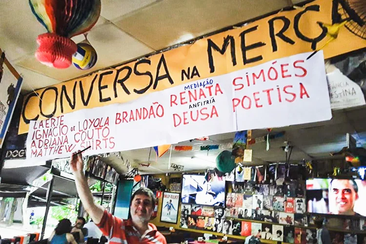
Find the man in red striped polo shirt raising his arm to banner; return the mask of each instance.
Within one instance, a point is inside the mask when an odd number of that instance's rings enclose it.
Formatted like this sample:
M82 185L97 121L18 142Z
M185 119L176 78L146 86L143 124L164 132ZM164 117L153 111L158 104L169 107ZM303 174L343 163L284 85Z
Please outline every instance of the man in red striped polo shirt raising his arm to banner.
M165 237L149 223L156 201L150 189L142 187L132 195L131 219L121 220L94 203L83 173L81 153L71 156L70 166L81 203L103 235L109 238L109 244L166 244Z

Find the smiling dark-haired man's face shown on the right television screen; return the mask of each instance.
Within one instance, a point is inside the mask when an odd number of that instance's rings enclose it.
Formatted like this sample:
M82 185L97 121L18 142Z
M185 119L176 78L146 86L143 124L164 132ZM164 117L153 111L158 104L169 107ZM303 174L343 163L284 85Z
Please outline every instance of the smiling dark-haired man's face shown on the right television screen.
M335 206L335 212L339 214L353 214L355 201L358 194L355 192L349 180L334 180L331 184L329 201Z

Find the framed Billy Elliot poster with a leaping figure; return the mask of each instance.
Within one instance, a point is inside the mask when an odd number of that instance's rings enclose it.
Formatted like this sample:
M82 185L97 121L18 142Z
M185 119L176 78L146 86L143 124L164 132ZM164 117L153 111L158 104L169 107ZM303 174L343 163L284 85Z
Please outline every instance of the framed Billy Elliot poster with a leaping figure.
M179 193L164 192L162 214L160 216L161 222L177 224L179 200Z

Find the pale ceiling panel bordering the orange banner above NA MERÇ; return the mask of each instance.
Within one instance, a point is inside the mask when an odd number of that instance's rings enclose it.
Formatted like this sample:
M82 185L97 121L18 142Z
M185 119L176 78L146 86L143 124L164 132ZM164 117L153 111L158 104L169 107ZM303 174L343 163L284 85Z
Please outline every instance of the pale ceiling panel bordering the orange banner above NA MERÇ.
M163 0L114 21L154 49L162 49L282 9L288 0Z

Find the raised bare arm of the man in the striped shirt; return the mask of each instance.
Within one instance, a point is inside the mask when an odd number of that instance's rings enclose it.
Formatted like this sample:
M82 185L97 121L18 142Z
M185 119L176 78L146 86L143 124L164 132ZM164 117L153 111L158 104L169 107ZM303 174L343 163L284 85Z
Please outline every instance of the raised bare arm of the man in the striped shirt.
M83 172L84 163L82 161L81 153L74 153L71 156L70 166L75 177L76 190L78 191L82 206L90 215L94 223L99 224L102 220L104 209L102 206L94 203L93 195Z

